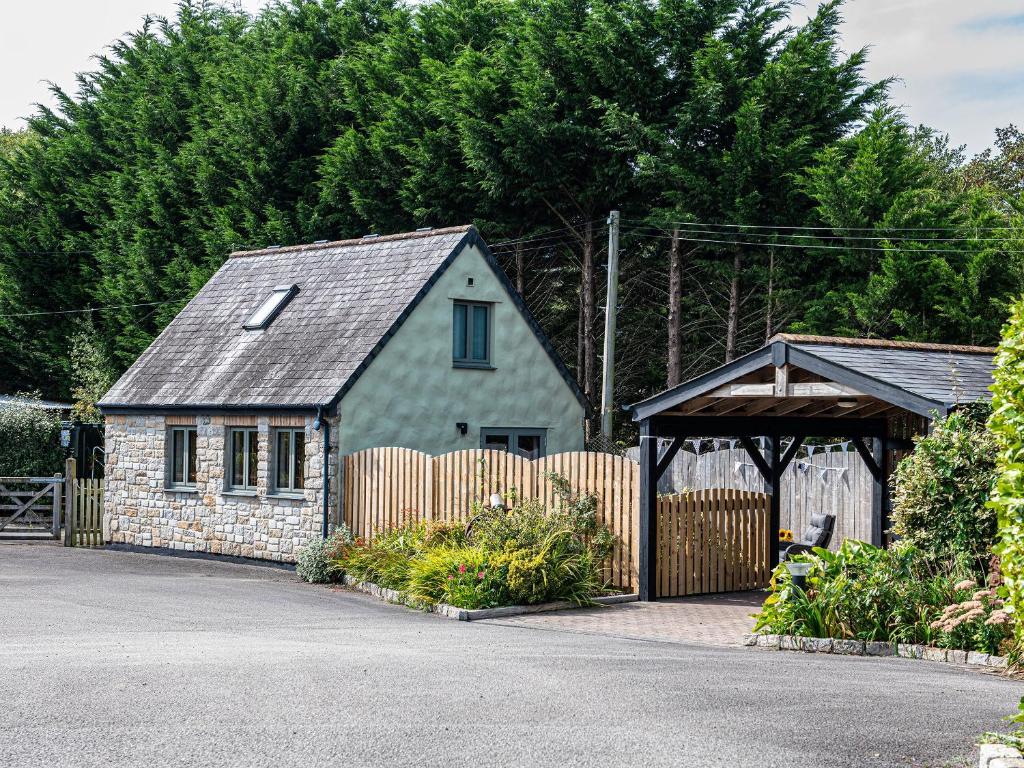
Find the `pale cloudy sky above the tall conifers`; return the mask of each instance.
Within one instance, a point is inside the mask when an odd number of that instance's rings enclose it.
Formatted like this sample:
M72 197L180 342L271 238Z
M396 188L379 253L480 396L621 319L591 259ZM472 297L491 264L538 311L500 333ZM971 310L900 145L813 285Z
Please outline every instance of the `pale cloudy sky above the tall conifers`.
M265 0L232 0L257 10ZM0 126L19 128L33 104L52 104L46 81L75 73L147 14L175 0L0 0ZM815 3L795 9L802 23ZM848 0L843 43L869 46L869 79L898 77L893 101L913 123L949 134L971 153L994 129L1024 125L1024 0Z

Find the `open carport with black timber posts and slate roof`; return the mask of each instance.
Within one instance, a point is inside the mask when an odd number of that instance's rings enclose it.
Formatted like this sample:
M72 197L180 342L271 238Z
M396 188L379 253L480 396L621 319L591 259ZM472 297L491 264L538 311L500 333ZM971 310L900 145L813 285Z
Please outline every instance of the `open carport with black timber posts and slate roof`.
M885 544L888 479L936 417L988 398L990 347L782 334L761 349L630 407L640 426L639 594L656 599L657 480L687 438L740 441L771 497L809 438L850 440L873 478L871 543ZM767 438L762 451L755 438ZM659 440L670 441L658 451ZM783 438L792 438L783 450ZM778 546L770 548L778 564Z

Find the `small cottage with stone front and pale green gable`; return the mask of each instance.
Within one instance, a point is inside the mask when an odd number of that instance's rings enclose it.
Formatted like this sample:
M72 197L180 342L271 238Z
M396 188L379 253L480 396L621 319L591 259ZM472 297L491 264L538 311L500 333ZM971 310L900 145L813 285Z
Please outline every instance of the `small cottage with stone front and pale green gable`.
M472 226L232 253L99 402L111 540L294 560L340 456L582 450L585 402Z

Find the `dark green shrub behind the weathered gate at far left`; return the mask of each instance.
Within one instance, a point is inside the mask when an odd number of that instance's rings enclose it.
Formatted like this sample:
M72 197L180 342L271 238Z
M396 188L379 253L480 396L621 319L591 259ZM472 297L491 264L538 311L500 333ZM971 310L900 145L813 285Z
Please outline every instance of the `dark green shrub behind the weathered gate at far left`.
M49 477L63 469L60 417L26 402L0 404L0 477Z

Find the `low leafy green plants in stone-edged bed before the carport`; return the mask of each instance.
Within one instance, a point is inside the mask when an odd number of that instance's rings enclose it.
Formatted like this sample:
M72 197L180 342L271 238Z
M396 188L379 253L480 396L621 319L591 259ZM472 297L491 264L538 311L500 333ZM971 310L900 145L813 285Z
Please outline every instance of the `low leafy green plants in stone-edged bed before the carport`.
M969 602L978 590L966 562L936 565L906 544L886 550L853 540L836 552L815 549L795 559L811 563L806 591L779 565L756 631L984 652L998 650L1008 636L1001 624L985 625L990 612L949 624L951 607Z

